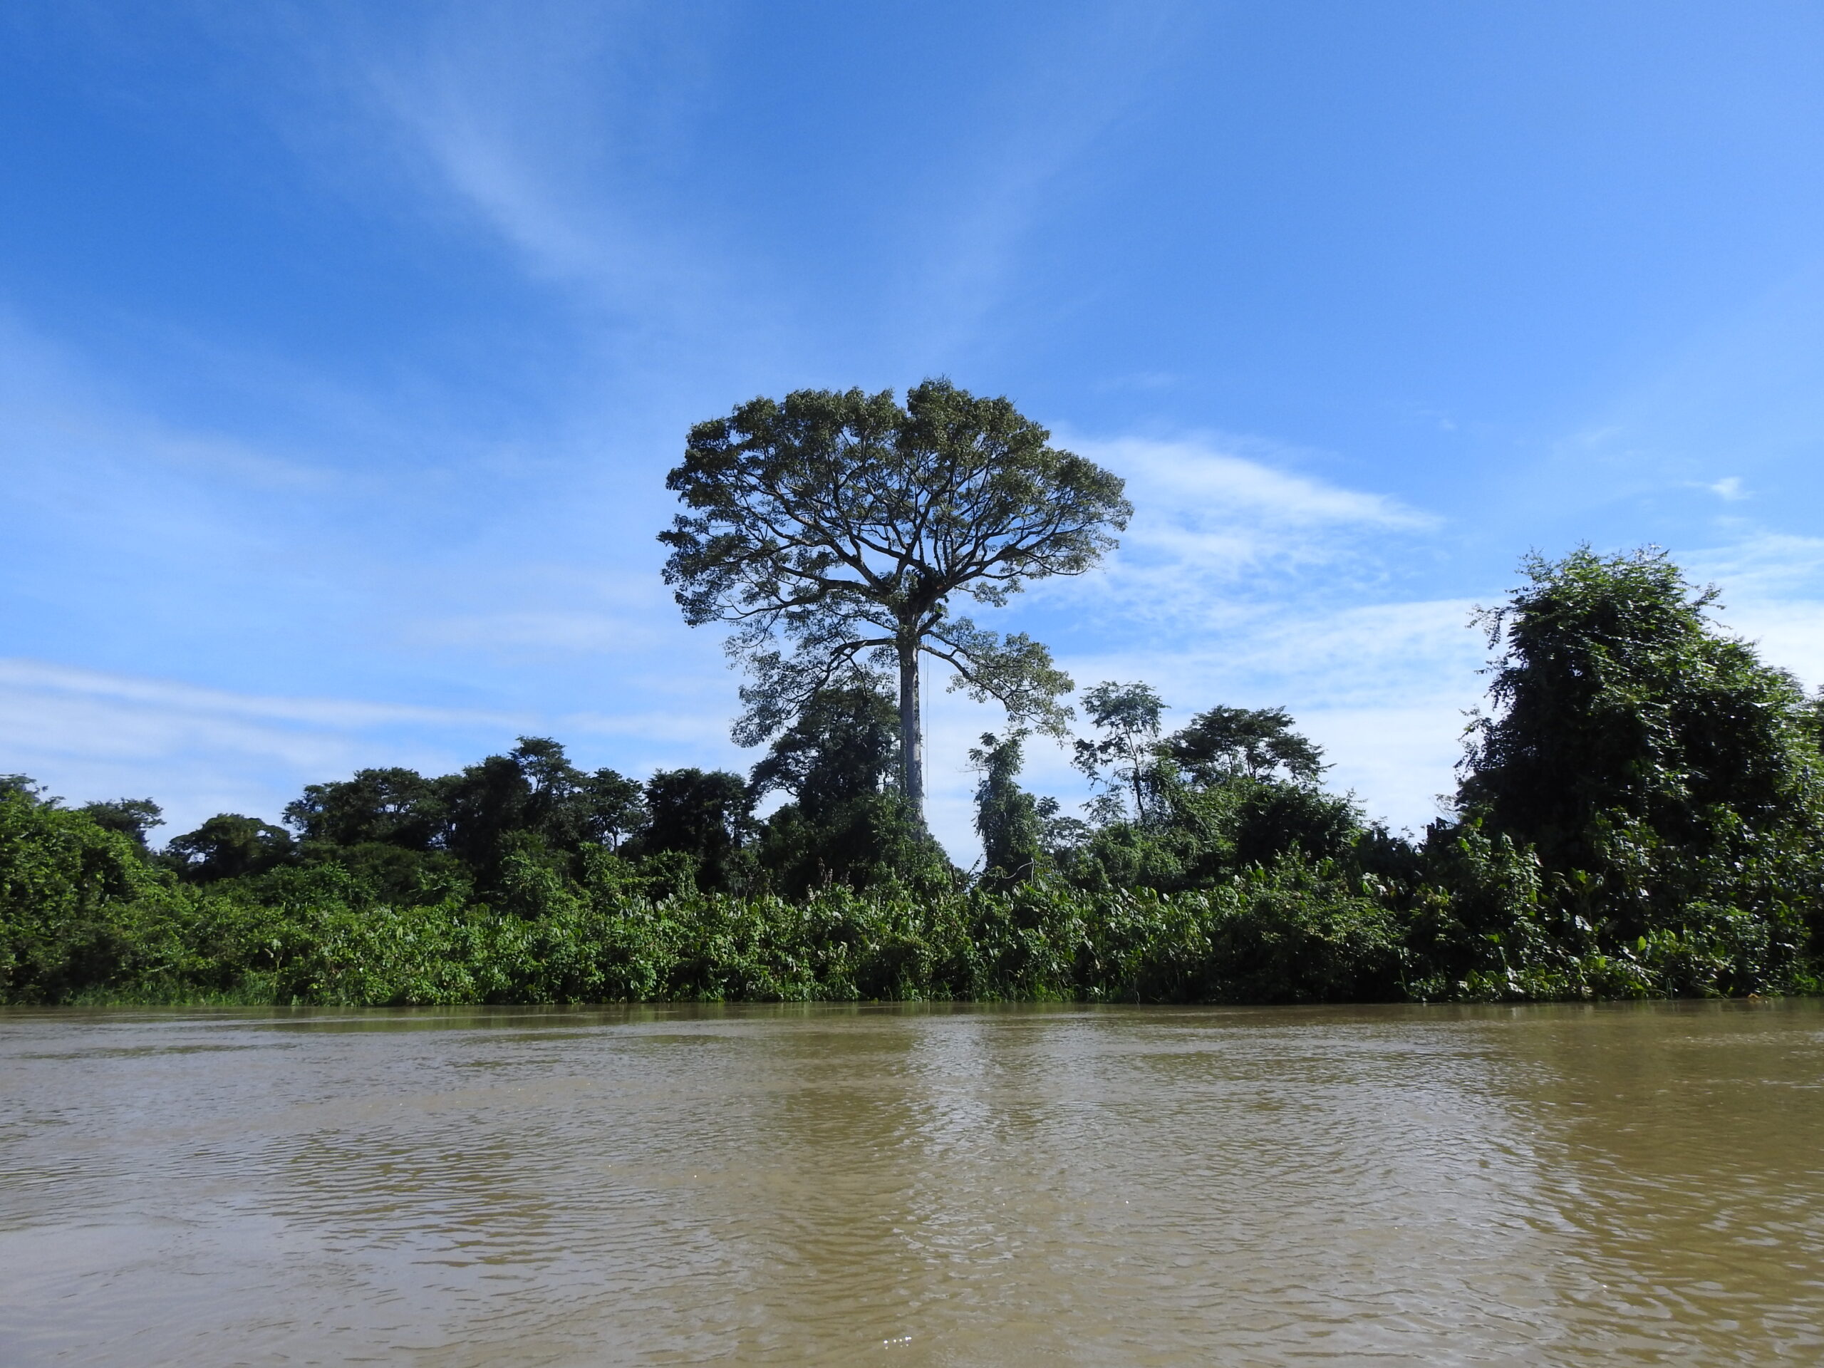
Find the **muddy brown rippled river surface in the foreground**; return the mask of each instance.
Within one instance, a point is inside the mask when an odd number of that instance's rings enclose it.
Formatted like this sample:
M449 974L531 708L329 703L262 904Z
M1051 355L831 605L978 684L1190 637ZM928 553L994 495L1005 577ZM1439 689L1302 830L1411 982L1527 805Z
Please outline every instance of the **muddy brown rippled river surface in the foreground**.
M1824 1003L0 1012L0 1363L1824 1363Z

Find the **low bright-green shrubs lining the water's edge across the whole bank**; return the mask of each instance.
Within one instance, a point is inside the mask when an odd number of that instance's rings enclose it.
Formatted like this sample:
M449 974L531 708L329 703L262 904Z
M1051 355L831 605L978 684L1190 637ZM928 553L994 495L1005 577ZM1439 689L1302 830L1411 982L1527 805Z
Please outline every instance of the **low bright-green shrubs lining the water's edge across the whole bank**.
M0 799L5 1001L1025 998L1363 1001L1815 989L1802 927L1733 908L1601 948L1503 839L1439 834L1412 896L1279 855L1209 886L702 894L607 850L503 857L492 901L394 901L341 861L204 886L80 814ZM686 866L688 868L688 866ZM1454 885L1452 896L1443 885Z

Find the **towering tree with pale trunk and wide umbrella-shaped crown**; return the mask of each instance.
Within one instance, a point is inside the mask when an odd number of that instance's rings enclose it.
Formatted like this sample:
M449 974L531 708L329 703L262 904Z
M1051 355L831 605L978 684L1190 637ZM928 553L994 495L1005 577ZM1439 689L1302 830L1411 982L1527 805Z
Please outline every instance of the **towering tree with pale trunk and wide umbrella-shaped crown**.
M795 390L689 432L666 487L686 505L658 540L691 626L726 622L744 660L735 739L759 744L819 689L899 680L899 782L923 819L919 658L1016 722L1063 735L1073 686L1023 633L950 617L1029 580L1082 575L1133 507L1122 482L1051 445L1007 399L927 379L892 390Z

